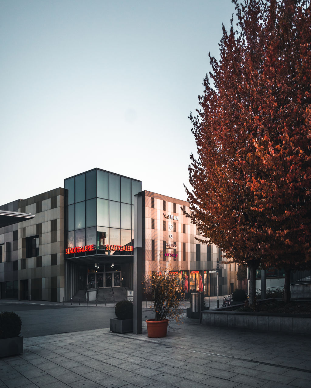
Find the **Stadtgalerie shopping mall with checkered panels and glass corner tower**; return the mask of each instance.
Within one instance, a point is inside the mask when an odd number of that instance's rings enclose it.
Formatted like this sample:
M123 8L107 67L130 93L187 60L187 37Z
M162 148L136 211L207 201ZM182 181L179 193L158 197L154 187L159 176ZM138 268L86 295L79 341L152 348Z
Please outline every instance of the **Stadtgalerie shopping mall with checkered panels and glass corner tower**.
M184 215L189 203L149 191L142 182L95 168L57 188L0 206L31 214L0 224L0 297L68 301L77 293L94 300L105 289L133 288L134 196L142 192L143 273L173 270L189 289L202 275L204 294L238 287L235 264L222 264L215 245L201 244ZM33 215L35 217L33 217ZM87 290L87 293L86 293Z

